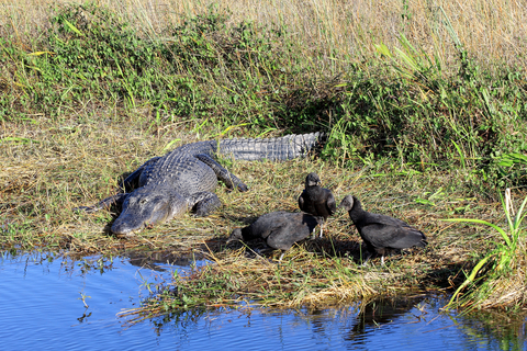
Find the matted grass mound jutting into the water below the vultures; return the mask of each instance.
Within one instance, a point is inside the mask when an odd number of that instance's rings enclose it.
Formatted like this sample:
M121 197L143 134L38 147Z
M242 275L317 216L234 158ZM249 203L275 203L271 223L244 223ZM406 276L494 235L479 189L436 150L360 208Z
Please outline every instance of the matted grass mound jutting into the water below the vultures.
M250 257L248 257L248 254ZM338 305L386 293L401 272L391 274L356 265L349 258L317 257L302 247L281 264L242 248L171 284L152 291L143 306L127 310L131 322L194 308L299 308Z

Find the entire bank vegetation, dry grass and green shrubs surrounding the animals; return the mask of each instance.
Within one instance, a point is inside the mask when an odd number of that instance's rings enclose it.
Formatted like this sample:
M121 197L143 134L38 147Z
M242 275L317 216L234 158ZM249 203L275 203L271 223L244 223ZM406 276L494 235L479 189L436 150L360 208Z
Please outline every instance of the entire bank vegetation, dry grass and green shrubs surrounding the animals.
M507 220L502 189L526 195L525 9L476 0L271 2L0 4L2 249L141 249L215 262L178 276L176 293L160 288L141 316L468 287L460 269L471 271L502 244L439 219L498 225ZM210 217L186 215L126 241L108 235L111 211L71 212L179 145L312 131L329 136L316 158L222 160L250 192L220 188L225 205ZM360 239L344 213L326 238L293 248L280 267L271 252L256 256L255 244L225 246L234 227L295 211L310 171L337 200L352 193L368 211L419 227L430 246L360 268Z

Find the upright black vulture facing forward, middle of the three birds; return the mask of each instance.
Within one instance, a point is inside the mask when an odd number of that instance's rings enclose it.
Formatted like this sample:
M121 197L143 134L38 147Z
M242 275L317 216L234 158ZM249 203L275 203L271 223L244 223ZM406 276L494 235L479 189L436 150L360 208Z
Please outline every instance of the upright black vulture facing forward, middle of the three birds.
M313 216L322 217L321 238L327 217L337 211L337 203L329 189L321 186L321 179L314 172L305 177L305 189L299 197L299 207Z

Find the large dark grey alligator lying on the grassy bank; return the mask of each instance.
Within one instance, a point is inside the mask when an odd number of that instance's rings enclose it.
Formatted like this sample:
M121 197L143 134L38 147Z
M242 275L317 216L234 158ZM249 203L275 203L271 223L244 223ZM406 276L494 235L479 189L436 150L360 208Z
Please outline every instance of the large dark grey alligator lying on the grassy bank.
M124 190L93 206L75 211L96 212L111 205L121 214L111 227L117 236L130 236L144 227L169 220L191 210L208 216L222 205L214 193L220 179L229 190L247 191L236 176L222 167L217 155L237 160L281 161L304 157L323 143L322 133L287 135L268 139L223 139L180 146L165 156L154 157L120 184Z

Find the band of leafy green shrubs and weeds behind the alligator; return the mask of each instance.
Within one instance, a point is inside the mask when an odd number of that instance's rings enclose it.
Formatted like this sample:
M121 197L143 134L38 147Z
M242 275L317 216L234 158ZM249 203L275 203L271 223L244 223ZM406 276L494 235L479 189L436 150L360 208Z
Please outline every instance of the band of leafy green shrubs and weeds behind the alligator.
M400 47L379 44L377 57L327 76L295 55L284 29L227 20L211 10L156 38L101 7L57 8L32 52L2 38L0 118L83 111L88 122L111 106L114 118L143 115L158 131L191 121L226 135L323 129L324 156L338 165L388 157L421 171L468 169L491 188L525 183L520 68L483 65L458 46L458 69L446 69L401 33Z

